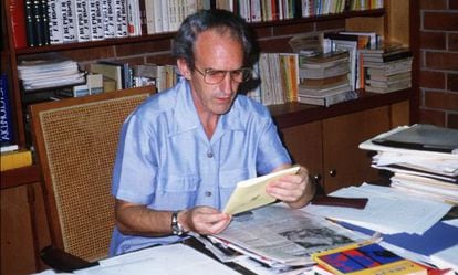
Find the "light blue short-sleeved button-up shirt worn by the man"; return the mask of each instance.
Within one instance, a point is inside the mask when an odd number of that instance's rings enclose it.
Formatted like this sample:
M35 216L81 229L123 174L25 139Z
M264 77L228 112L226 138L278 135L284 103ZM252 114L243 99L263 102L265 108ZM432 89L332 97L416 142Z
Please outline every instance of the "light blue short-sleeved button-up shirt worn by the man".
M291 159L266 106L238 95L209 139L190 85L149 97L123 125L112 194L154 210L196 205L221 210L238 181L266 174ZM111 255L178 241L113 232Z

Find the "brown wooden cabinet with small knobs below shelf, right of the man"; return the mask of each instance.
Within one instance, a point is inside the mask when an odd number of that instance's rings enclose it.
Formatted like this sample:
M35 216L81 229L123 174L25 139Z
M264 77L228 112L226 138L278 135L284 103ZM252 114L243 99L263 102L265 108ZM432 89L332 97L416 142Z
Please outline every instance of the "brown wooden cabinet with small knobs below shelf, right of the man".
M375 135L409 123L409 103L377 106L281 129L293 160L305 166L326 193L377 180L372 155L358 145Z

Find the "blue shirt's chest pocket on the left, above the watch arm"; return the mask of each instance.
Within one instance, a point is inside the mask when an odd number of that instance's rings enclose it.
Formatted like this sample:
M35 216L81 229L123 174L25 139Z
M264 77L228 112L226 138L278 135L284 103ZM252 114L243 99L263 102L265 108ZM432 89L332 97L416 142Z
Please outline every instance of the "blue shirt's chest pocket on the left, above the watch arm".
M199 183L200 178L196 174L167 176L159 180L154 204L164 210L194 207Z

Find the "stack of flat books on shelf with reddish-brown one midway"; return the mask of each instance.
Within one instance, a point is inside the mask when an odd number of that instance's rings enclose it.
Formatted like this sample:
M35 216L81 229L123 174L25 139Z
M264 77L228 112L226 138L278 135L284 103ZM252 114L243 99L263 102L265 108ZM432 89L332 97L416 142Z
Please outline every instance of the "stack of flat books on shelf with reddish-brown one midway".
M298 101L327 107L356 98L350 85L348 56L347 51L300 55Z

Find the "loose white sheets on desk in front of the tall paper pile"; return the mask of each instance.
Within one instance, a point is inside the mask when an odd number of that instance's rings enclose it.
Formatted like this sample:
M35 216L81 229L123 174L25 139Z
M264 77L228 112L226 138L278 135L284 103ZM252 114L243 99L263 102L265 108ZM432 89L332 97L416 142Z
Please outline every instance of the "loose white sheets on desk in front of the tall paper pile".
M386 234L423 234L452 207L441 201L425 200L420 195L406 195L404 191L389 187L368 183L343 188L330 195L367 198L368 202L363 210L310 204L304 211Z

